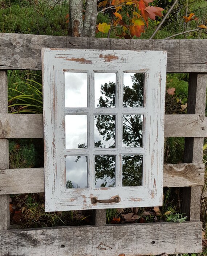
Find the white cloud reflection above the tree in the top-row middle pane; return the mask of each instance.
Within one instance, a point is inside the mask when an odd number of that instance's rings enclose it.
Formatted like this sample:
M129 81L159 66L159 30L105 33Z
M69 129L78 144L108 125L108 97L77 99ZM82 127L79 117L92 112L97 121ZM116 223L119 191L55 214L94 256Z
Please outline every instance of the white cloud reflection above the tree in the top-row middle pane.
M115 73L95 73L94 74L94 91L95 91L95 108L99 104L98 100L100 96L105 99L106 97L101 94L101 85L105 83L109 84L109 82L116 83L116 74Z

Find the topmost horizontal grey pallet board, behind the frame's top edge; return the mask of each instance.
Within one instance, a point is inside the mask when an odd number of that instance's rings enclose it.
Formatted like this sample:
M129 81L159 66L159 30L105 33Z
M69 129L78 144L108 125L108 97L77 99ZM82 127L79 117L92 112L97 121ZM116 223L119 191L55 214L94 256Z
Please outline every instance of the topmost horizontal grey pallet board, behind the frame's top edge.
M207 40L130 40L6 33L1 33L0 38L0 69L41 70L43 47L166 50L167 72L207 73Z

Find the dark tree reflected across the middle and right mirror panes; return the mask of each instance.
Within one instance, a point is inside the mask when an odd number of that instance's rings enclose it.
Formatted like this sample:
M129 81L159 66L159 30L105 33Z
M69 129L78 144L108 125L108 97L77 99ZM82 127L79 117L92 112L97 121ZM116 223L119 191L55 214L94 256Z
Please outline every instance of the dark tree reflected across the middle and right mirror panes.
M131 77L133 82L132 88L125 85L123 87L123 106L135 108L143 105L143 85L144 75L135 74ZM101 85L101 94L98 107L115 106L115 83ZM103 136L103 139L114 139L114 116L96 116L96 127ZM142 116L125 115L123 116L123 140L124 147L141 147L142 146ZM98 141L96 147L102 147L101 141ZM111 147L114 147L111 146ZM108 156L97 156L95 161L95 180L102 179L101 186L107 185L107 180L115 179L114 158ZM123 155L123 186L142 185L142 156L141 155Z

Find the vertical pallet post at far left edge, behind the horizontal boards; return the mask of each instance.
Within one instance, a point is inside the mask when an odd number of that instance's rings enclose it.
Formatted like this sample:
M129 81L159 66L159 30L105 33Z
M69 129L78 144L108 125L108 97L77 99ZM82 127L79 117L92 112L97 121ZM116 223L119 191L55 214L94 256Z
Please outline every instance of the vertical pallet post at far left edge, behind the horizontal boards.
M7 72L0 71L0 112L8 112ZM0 139L0 169L9 168L9 143ZM9 195L0 195L0 230L9 228Z

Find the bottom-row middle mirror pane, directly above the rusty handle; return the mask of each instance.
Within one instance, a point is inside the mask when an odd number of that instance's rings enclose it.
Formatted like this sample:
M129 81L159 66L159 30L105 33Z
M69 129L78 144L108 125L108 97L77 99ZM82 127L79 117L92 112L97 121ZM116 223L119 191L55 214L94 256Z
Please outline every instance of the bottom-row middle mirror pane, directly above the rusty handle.
M95 188L115 186L115 156L95 156Z

